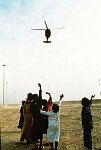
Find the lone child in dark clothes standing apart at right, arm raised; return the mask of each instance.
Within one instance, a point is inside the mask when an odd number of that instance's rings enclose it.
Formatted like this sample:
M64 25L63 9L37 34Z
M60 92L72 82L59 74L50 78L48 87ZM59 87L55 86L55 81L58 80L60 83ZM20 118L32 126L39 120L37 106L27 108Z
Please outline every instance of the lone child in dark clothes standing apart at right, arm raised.
M94 95L91 96L91 99L84 97L82 98L82 127L83 127L83 134L84 134L84 146L88 148L88 150L92 150L92 129L93 129L93 120L92 114L90 110L90 106L92 104L92 98Z

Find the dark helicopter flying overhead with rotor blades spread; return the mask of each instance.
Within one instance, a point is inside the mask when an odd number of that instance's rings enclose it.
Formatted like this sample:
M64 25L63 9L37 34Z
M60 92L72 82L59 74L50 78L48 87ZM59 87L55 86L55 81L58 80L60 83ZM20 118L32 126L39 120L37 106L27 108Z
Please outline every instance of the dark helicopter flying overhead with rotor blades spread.
M44 21L44 23L45 23L46 29L31 29L31 30L44 30L45 31L46 41L43 41L43 42L44 43L51 43L51 41L48 40L50 38L50 36L51 36L51 30L48 28L46 21ZM55 28L55 29L62 29L62 28Z

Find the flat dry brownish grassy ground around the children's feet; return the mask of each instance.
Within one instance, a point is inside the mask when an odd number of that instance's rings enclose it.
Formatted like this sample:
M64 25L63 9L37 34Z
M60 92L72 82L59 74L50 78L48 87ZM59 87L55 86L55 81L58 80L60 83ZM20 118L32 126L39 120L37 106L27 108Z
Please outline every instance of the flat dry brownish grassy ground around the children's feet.
M32 150L32 145L20 143L21 132L17 128L20 106L1 106L1 149ZM92 131L93 149L101 150L101 101L92 107L94 128ZM79 102L62 102L60 111L61 136L59 150L83 150L83 130L81 126L81 104ZM45 142L45 137L43 142ZM48 150L49 147L44 147Z

